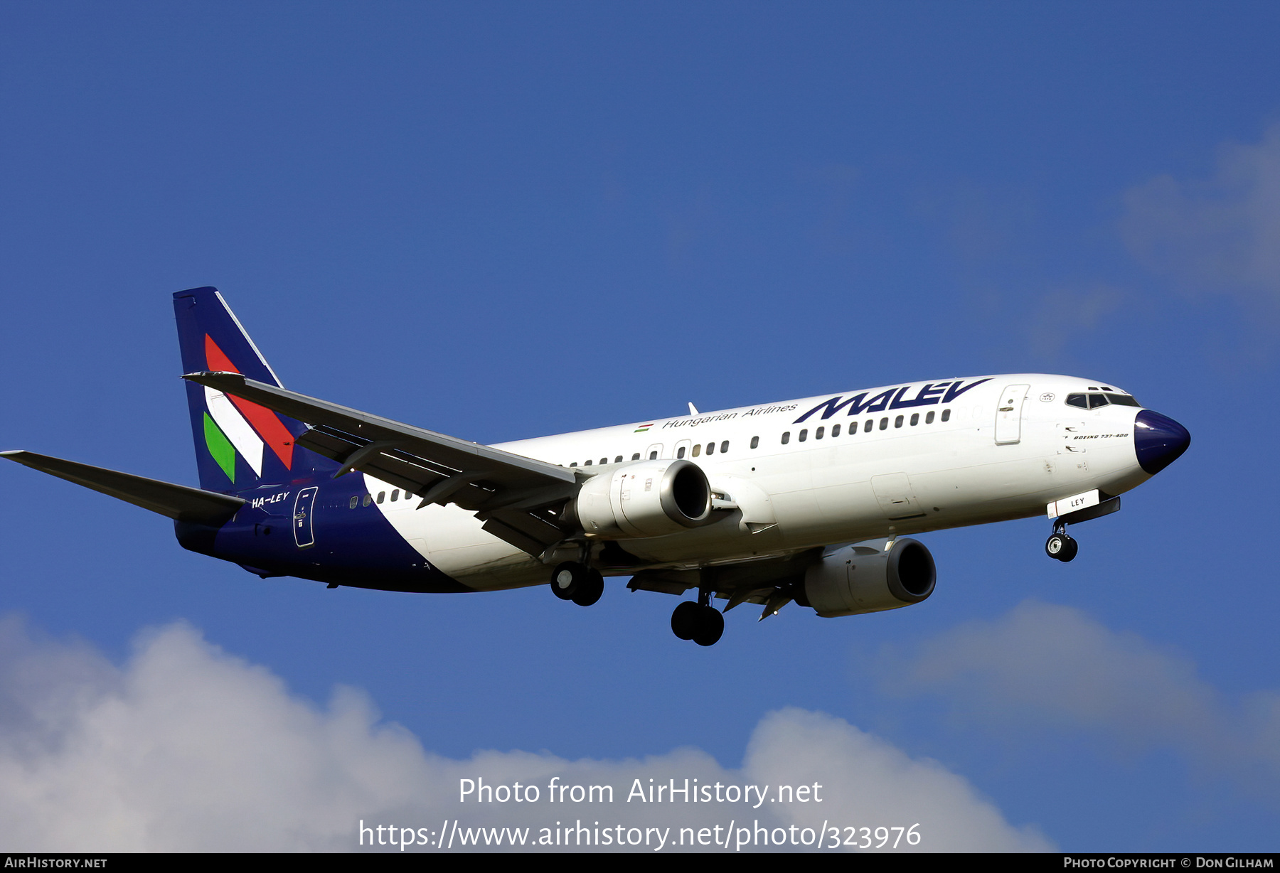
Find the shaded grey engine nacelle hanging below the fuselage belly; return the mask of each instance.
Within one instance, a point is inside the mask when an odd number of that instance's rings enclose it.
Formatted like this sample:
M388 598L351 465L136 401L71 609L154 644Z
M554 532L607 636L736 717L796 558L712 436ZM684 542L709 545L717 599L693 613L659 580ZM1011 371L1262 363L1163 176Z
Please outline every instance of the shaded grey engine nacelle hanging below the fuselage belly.
M938 571L923 543L900 538L886 552L873 540L846 545L809 567L804 591L819 616L855 616L897 609L933 594Z

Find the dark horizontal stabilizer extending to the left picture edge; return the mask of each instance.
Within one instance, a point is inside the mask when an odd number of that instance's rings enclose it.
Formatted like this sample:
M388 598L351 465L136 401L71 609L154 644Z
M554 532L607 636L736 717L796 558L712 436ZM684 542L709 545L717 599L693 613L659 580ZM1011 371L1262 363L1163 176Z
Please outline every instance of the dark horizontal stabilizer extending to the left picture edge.
M87 463L76 463L35 452L0 452L0 457L178 521L216 526L244 506L244 501L238 497L188 488L187 485L174 485L128 472L91 467Z

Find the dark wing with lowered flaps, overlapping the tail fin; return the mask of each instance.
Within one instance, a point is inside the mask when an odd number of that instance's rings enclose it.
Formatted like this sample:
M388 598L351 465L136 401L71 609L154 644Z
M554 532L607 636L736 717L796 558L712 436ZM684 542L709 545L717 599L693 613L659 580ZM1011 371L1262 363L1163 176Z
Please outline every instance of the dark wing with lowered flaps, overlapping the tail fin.
M183 376L275 410L310 429L297 444L375 476L430 503L456 503L476 513L484 530L530 554L564 538L558 504L573 497L573 471L545 461L438 434L306 394L246 379L238 372Z

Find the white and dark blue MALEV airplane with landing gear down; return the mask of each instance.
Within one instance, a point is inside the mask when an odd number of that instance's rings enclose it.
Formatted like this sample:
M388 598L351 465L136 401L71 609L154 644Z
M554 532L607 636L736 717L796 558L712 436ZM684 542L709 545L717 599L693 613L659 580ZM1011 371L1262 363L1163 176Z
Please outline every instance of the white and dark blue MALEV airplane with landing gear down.
M822 617L933 593L911 535L1046 513L1068 526L1187 451L1180 424L1097 379L946 378L481 445L284 388L221 294L174 294L200 488L24 451L0 456L173 518L178 543L262 579L388 591L605 576L685 597L677 637L790 602ZM723 609L712 605L724 600Z

